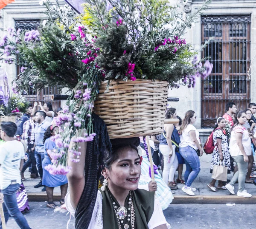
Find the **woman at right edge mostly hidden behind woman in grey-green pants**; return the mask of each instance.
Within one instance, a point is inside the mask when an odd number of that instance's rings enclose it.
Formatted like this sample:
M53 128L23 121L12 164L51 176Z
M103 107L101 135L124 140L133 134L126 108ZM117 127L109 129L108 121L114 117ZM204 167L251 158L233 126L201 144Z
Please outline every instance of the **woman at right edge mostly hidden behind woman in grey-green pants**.
M249 109L245 109L244 113L245 113L245 116L246 116L246 122L245 122L245 124L243 124L243 126L245 127L246 130L250 129L250 132L252 134L254 134L254 127L255 127L256 124L255 124L255 122L253 122L253 120L251 120L252 112ZM253 162L254 162L253 154L248 156L248 159L249 159L249 161L248 161L248 171L247 171L247 174L246 174L245 183L253 184L253 180L250 178L251 172L252 172L252 169L253 169ZM253 176L255 176L255 175L253 174Z

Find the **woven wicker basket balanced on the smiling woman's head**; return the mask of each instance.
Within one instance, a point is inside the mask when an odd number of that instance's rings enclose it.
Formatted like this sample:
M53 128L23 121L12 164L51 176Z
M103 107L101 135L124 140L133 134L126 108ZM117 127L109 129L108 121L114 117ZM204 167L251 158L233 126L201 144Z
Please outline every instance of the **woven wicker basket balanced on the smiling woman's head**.
M150 136L163 131L168 82L102 82L94 110L107 124L111 139Z

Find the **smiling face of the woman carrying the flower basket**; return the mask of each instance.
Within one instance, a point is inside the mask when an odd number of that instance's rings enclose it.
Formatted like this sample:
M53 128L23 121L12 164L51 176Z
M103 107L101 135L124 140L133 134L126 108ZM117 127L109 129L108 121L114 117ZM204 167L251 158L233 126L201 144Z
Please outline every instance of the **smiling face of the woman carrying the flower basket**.
M118 150L118 158L102 175L108 178L108 187L115 190L136 190L141 174L140 157L136 150L124 147Z

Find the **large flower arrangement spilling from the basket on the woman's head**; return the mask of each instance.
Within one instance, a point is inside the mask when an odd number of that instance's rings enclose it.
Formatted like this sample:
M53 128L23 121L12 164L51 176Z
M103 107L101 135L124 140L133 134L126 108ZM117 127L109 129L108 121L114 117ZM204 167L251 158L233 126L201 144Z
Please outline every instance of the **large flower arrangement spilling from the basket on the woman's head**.
M55 119L60 134L53 139L58 149L51 155L50 173L69 172L67 157L76 162L81 154L76 143L93 141L93 102L102 81L160 79L171 87L178 82L194 87L195 77L210 74L212 65L198 60L183 39L209 2L183 14L167 0L88 0L78 16L67 5L43 0L48 19L38 30L9 30L0 41L0 57L22 66L15 90L58 85L71 92L64 114Z

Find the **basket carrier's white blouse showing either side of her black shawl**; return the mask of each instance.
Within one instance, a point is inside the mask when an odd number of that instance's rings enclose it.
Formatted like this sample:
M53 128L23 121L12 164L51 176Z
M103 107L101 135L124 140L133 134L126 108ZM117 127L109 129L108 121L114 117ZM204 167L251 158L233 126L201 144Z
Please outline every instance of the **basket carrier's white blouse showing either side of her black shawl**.
M65 204L67 210L75 217L76 210L71 205L70 192L67 192L67 195L65 196ZM99 190L88 229L103 229L102 194Z

